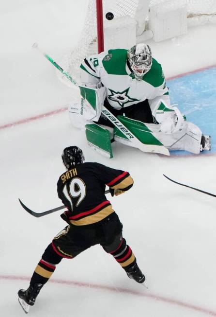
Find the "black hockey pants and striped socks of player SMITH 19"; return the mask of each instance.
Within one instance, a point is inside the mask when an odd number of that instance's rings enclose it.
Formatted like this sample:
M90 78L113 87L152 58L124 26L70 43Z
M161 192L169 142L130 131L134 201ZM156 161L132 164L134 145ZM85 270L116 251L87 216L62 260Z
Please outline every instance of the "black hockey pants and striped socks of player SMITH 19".
M122 236L122 229L123 225L115 212L104 222L95 226L82 228L68 225L46 248L34 270L30 284L45 284L62 258L73 259L79 253L97 244L100 244L127 271L136 263L136 258Z

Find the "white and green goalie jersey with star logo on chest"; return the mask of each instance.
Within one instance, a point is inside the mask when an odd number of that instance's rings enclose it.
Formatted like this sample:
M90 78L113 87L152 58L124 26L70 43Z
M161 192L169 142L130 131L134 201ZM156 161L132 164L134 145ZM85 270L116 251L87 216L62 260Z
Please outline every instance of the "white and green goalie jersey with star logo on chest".
M168 88L161 65L153 58L151 69L141 81L134 77L127 60L127 50L116 49L85 58L80 65L80 80L87 87L107 88L108 103L116 109L148 99L152 112L158 102L170 106Z

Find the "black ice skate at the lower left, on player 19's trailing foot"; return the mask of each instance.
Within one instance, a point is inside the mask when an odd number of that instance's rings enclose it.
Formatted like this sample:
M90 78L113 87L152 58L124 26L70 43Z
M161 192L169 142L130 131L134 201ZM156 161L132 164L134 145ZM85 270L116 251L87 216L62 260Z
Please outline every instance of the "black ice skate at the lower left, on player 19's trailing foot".
M33 287L30 285L27 290L20 289L18 291L18 301L26 314L29 313L30 306L34 305L42 287L43 284L34 284Z

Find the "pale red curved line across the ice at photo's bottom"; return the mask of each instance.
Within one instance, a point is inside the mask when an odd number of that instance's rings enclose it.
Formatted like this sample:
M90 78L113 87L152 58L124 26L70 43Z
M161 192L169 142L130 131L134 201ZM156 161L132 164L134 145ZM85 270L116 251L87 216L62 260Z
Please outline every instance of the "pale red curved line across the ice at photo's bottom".
M0 275L0 280L28 281L29 282L30 278L24 277L24 276ZM100 285L100 284L90 284L90 283L84 283L84 282L63 281L63 280L50 280L49 282L56 283L56 284L62 284L62 285L65 284L65 285L75 285L75 286L79 286L79 287L88 287L88 288L90 287L90 288L94 288L94 289L103 289L105 291L111 291L111 292L115 292L115 293L126 293L126 294L131 294L134 296L146 297L146 298L150 298L150 299L153 299L156 301L161 301L161 302L165 302L168 304L177 305L180 307L195 310L197 312L204 313L204 314L209 315L209 316L216 316L216 312L209 310L209 309L206 309L206 308L203 308L203 307L200 307L200 306L197 306L197 305L185 303L181 300L170 299L170 298L166 298L163 296L158 296L156 294L149 294L149 293L134 291L134 290L130 290L127 288L122 288L122 287L116 288L116 287Z

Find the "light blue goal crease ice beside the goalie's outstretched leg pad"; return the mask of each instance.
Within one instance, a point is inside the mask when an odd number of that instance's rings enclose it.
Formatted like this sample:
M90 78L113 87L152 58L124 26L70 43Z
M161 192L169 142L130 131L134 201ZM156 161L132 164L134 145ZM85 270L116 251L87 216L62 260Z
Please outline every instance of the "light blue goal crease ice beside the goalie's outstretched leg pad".
M211 136L211 151L200 155L216 153L216 67L188 73L167 81L172 104L178 104L187 121L199 126L204 135ZM172 151L175 156L191 156L185 151Z

